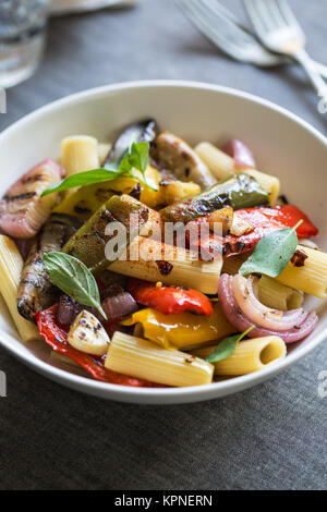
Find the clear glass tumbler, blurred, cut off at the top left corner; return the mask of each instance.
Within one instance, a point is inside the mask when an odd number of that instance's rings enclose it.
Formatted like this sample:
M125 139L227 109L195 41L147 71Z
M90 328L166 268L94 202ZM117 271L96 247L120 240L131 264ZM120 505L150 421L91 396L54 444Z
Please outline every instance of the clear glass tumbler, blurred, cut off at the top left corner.
M0 0L0 87L28 78L45 47L49 0Z

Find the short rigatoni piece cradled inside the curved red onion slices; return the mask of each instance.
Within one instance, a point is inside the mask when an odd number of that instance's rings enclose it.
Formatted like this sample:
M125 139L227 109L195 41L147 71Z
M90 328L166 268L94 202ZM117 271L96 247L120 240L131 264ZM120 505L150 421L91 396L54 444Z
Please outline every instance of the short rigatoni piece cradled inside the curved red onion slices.
M267 307L287 312L298 309L304 301L303 292L263 276L258 281L258 298Z

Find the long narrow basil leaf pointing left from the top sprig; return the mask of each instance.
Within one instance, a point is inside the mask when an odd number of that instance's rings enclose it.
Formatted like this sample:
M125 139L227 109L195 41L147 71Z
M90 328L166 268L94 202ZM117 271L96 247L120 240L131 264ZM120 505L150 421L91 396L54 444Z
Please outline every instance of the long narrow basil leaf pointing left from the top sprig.
M94 169L92 171L77 172L76 174L72 174L69 178L61 180L59 183L55 183L53 185L46 188L41 194L41 197L48 194L52 194L53 192L68 191L69 188L74 188L75 186L92 185L94 183L114 180L120 174L118 171L109 171L106 169Z

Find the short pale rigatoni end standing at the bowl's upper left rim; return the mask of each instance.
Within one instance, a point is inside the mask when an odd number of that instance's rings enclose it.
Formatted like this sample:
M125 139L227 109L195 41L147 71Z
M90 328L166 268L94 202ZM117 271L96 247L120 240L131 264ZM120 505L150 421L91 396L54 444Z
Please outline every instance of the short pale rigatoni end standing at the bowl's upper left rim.
M100 167L98 142L88 135L75 135L61 142L61 164L66 175Z

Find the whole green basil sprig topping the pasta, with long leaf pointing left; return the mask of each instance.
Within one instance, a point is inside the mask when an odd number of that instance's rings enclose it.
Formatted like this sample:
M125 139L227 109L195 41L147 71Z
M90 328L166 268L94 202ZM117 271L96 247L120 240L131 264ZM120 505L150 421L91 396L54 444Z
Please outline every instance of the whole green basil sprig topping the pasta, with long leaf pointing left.
M133 178L134 180L140 181L140 183L142 183L147 188L156 191L156 188L146 183L145 179L140 179L140 176L133 172L133 169L136 169L144 176L144 173L148 167L148 143L133 143L119 164L111 163L110 167L105 166L101 169L77 172L76 174L65 178L59 183L55 183L53 185L46 188L41 194L41 197L48 194L52 194L53 192L68 191L69 188L74 188L75 186L92 185L94 183L116 180L117 178Z

